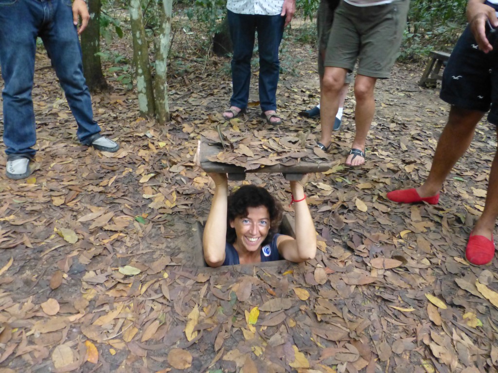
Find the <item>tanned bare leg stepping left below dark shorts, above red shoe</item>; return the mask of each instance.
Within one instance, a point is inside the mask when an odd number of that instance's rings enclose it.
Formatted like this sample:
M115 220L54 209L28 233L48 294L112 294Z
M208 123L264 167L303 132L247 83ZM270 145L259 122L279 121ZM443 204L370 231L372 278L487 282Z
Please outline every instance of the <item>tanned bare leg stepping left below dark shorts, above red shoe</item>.
M481 111L451 107L448 123L443 129L436 147L429 176L422 186L416 188L421 197L435 195L441 190L451 169L467 151L474 137L476 125L483 115L484 113ZM493 165L495 165L495 161Z

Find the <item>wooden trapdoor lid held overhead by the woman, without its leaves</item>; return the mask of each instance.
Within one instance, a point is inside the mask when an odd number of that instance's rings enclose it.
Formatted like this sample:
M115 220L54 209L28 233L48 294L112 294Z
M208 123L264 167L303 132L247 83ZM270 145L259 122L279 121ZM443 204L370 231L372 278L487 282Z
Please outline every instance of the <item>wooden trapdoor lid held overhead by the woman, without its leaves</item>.
M214 172L214 173L222 173L222 174L246 174L246 173L282 173L282 174L307 174L314 172L324 172L329 170L332 167L332 163L329 161L314 163L314 162L299 162L294 166L282 166L280 164L273 166L264 166L260 167L256 170L246 170L244 167L228 165L221 162L211 162L208 160L209 157L217 155L219 152L223 151L221 145L209 145L207 141L201 141L201 151L200 151L200 161L201 167L206 172ZM300 180L295 179L297 176L289 176L291 180ZM236 176L232 176L231 180L236 178ZM244 179L242 179L244 180Z

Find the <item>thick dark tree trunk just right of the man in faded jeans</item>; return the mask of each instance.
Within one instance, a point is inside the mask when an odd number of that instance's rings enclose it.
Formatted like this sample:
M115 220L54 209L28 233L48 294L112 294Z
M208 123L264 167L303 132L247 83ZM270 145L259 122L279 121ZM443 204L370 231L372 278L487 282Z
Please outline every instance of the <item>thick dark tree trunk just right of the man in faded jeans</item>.
M81 50L83 54L83 75L90 92L107 91L109 86L102 73L100 56L100 8L101 0L89 0L88 10L91 14L87 28L81 34Z

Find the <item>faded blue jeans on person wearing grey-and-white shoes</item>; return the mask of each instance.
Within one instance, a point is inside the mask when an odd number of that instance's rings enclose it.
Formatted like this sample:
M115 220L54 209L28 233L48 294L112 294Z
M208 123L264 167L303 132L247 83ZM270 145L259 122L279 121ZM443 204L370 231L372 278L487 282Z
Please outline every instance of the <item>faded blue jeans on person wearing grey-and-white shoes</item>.
M0 0L0 67L5 153L32 157L36 144L33 88L36 37L45 49L78 123L81 143L100 132L83 76L71 0Z

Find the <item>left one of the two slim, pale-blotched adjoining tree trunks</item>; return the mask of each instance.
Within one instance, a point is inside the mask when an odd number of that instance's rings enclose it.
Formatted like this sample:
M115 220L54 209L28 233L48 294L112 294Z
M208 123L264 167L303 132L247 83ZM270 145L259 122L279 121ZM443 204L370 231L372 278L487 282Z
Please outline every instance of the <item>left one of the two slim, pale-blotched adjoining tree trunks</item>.
M135 64L138 109L140 110L140 115L144 118L153 118L155 111L154 92L140 0L130 1L129 13L133 40L133 62Z

